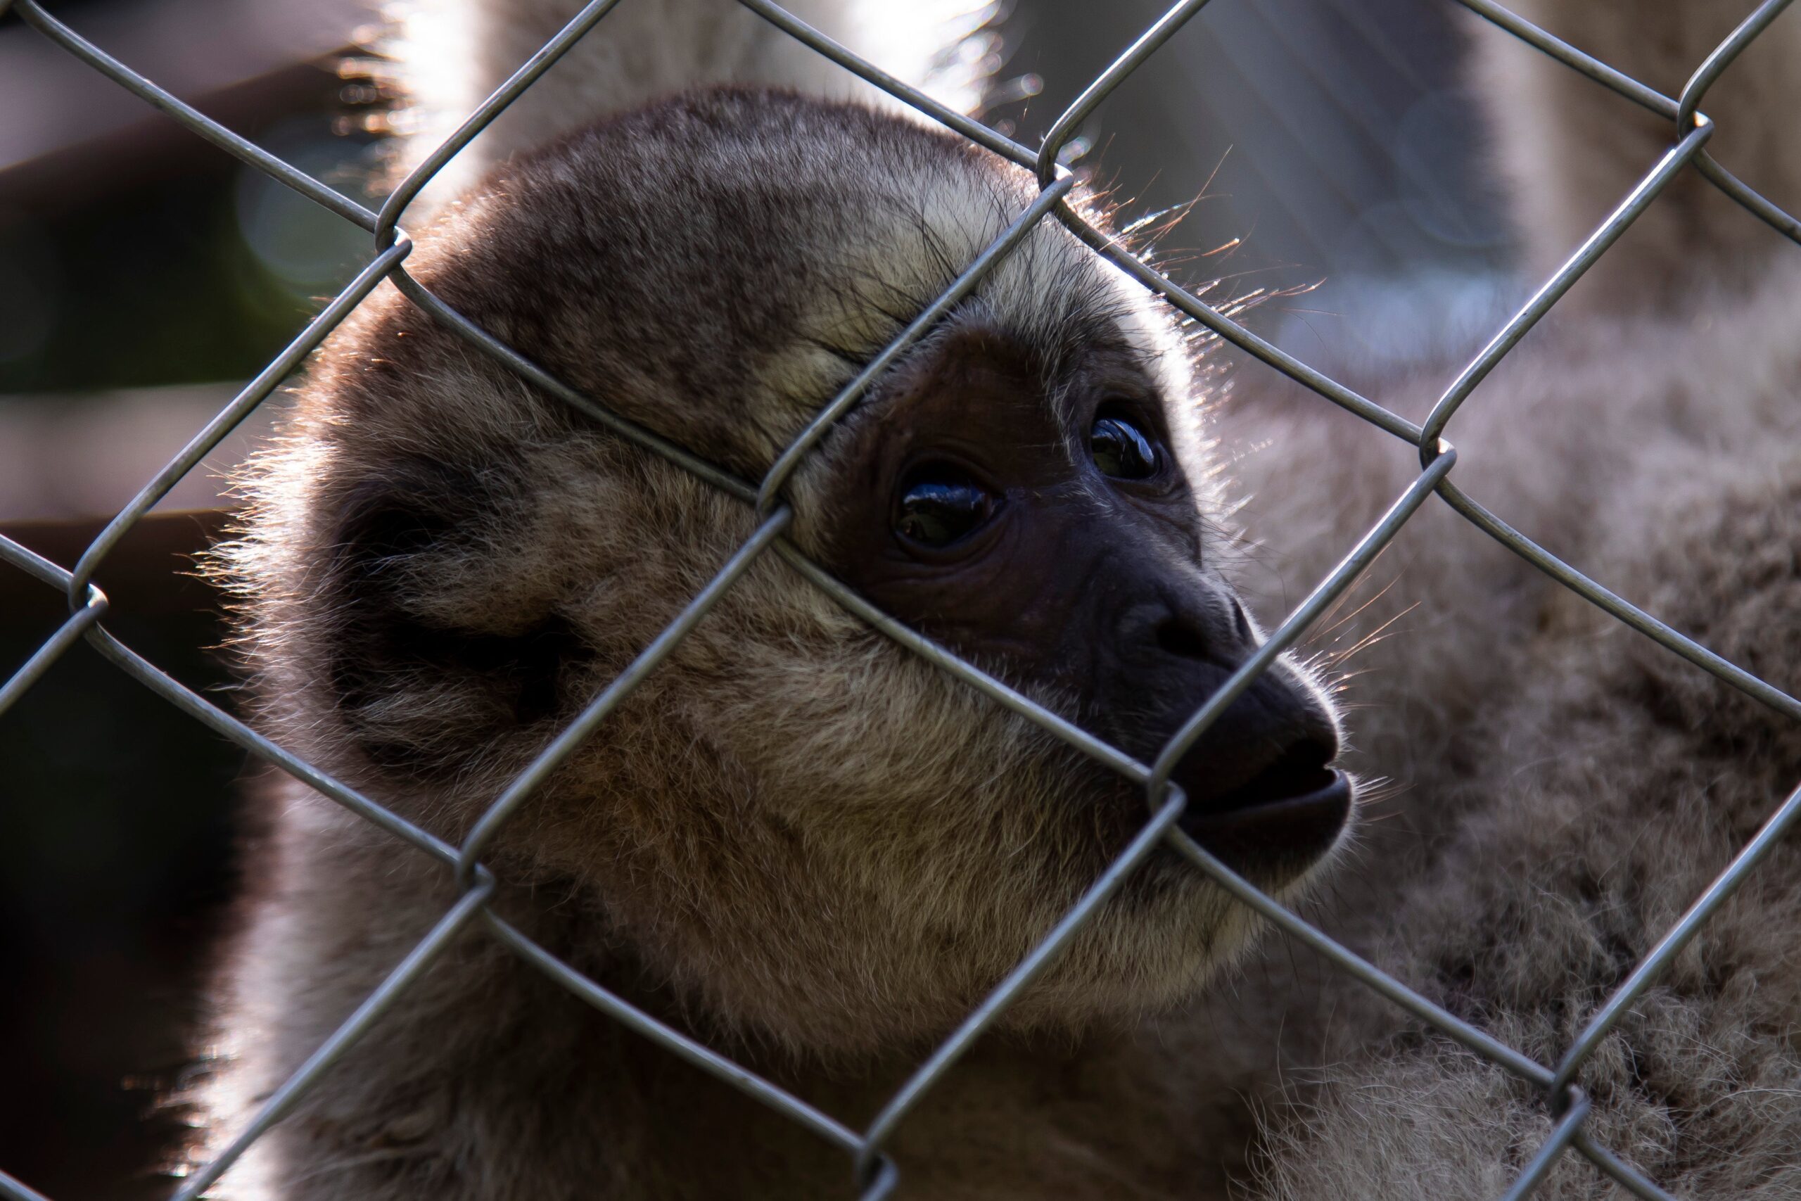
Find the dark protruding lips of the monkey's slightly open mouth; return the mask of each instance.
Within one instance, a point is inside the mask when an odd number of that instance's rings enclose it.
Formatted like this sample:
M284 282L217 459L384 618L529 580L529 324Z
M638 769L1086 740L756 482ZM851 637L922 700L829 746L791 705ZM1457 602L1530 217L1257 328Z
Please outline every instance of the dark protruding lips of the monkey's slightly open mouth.
M1351 819L1351 780L1327 767L1329 756L1320 744L1302 742L1230 790L1190 789L1176 825L1232 868L1311 864Z

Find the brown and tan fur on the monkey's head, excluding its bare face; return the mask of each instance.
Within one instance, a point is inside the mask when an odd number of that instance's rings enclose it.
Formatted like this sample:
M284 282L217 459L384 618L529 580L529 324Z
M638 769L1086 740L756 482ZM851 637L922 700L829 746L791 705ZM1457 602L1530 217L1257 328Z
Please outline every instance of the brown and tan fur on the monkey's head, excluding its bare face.
M1032 194L949 135L702 92L493 175L409 270L578 391L755 479ZM958 322L1046 380L1059 348L1106 328L1154 380L1189 477L1208 479L1169 319L1055 223ZM895 387L791 481L803 551L828 553L834 497ZM755 528L389 288L331 339L250 492L222 562L263 727L447 837ZM1217 537L1216 499L1196 508L1194 537ZM955 1025L1145 816L1133 787L765 555L488 859L576 889L609 940L720 1023L832 1052ZM1009 1017L1169 1005L1244 936L1221 893L1153 859Z

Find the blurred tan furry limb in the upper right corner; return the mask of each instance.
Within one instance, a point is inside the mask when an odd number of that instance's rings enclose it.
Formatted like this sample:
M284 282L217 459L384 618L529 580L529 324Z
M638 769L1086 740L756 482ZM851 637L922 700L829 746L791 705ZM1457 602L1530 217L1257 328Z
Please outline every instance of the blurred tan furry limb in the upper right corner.
M1675 97L1756 5L1525 0L1511 7ZM1788 70L1797 54L1801 23L1779 16L1700 104L1718 126L1709 153L1778 203L1801 196L1801 155L1788 121L1801 103L1801 81ZM1673 122L1498 31L1475 40L1473 74L1527 270L1549 275L1671 146ZM1684 171L1590 268L1565 313L1668 313L1720 299L1742 303L1781 266L1772 261L1779 250L1769 227L1747 220L1697 171Z

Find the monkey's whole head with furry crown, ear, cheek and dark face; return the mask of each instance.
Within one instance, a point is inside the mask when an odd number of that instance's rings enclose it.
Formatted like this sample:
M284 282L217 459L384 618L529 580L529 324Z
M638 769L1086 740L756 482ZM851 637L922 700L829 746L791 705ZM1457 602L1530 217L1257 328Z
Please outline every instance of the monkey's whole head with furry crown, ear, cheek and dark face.
M902 119L711 90L501 167L409 268L575 389L756 479L1034 194ZM1041 221L807 456L785 537L1149 762L1259 643L1216 565L1208 450L1171 317ZM263 727L450 839L756 524L385 284L249 492L220 562ZM1322 691L1277 661L1178 765L1181 826L1291 891L1349 823L1336 751ZM1147 816L1142 787L771 553L486 859L566 889L594 960L834 1053L942 1035ZM1007 1021L1176 1003L1246 935L1160 848Z

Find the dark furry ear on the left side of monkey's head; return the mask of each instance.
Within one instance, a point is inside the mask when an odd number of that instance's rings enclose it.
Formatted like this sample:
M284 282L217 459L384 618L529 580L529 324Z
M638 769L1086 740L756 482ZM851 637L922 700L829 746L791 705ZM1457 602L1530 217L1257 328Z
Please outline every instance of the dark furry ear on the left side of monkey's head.
M407 459L353 483L333 510L324 670L373 763L456 771L486 740L558 711L566 668L589 652L555 598L495 583L529 519L515 475Z

